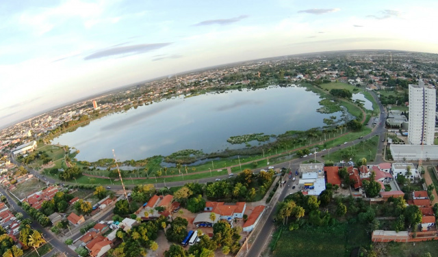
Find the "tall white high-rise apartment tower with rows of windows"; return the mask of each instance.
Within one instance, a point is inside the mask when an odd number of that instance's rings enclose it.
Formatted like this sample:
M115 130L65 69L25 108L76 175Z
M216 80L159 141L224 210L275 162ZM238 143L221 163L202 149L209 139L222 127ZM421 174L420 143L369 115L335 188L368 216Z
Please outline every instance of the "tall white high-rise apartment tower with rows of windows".
M436 105L435 88L424 85L421 79L418 85L409 84L409 144L433 145Z

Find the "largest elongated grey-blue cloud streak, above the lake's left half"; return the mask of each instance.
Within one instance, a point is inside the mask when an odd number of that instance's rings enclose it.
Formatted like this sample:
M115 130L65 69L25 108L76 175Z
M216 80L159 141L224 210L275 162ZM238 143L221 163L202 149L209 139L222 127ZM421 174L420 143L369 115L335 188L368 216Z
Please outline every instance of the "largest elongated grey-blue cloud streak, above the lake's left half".
M161 49L165 46L168 46L172 43L157 43L157 44L133 44L131 46L119 46L113 47L111 49L105 49L102 51L97 51L96 53L92 53L84 57L84 60L89 59L99 59L103 57L108 57L112 55L138 55L140 53L147 53L156 49Z

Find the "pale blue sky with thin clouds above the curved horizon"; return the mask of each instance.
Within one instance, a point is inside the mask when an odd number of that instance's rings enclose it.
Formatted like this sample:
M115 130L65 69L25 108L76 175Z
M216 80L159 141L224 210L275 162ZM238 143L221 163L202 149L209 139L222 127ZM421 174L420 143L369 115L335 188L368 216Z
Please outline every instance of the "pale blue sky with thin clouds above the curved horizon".
M415 3L415 4L414 4ZM353 49L438 53L438 1L0 2L0 127L164 75Z

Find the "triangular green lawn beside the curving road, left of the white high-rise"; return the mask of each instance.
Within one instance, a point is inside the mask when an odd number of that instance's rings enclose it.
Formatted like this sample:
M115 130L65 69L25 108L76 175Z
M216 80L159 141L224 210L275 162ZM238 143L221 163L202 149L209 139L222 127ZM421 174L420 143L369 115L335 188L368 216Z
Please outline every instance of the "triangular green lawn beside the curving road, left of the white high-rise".
M354 147L351 146L351 148L348 147L346 149L337 150L336 152L331 152L330 157L329 154L325 154L322 156L322 159L326 161L331 160L337 162L343 159L344 161L347 161L349 158L352 158L353 161L356 161L357 159L361 159L365 157L365 159L367 159L369 162L374 161L377 152L376 146L378 145L378 137L375 136L372 137L371 139L365 140L365 143L363 142L364 141L356 144ZM371 159L370 159L370 150L371 150Z

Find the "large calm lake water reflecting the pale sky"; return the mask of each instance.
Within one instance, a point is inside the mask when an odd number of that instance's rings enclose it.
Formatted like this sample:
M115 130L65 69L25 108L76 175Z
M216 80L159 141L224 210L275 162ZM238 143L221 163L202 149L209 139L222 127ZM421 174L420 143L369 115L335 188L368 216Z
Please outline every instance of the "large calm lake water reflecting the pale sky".
M209 153L244 148L244 144L232 145L227 139L250 133L305 131L324 126L323 118L342 115L340 111L318 113L319 101L318 94L296 86L181 96L94 120L53 143L74 146L80 150L76 158L81 161L112 158L112 149L117 159L125 161L183 149Z

